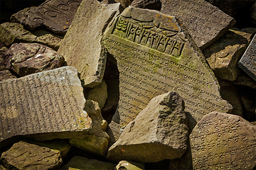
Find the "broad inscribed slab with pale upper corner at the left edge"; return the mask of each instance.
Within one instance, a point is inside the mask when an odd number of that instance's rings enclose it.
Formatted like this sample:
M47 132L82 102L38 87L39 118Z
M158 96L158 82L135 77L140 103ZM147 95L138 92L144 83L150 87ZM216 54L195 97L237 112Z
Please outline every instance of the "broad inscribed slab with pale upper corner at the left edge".
M61 67L0 82L0 145L26 135L35 140L85 135L92 120L83 110L78 71ZM15 138L16 140L16 138Z

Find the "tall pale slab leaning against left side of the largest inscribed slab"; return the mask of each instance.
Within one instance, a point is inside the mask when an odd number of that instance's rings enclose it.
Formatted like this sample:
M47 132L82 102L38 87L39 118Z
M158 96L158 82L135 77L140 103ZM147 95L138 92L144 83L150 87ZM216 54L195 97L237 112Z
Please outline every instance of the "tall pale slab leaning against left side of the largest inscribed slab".
M58 50L68 65L78 69L82 86L94 87L102 81L107 51L100 45L102 34L114 16L119 4L100 4L84 0Z

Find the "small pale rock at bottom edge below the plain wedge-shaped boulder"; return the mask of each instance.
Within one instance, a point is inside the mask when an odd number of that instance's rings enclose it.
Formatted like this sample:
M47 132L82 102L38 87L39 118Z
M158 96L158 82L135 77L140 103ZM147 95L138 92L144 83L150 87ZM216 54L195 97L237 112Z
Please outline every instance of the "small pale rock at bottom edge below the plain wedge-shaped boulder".
M145 165L138 162L120 161L115 167L117 170L144 170Z

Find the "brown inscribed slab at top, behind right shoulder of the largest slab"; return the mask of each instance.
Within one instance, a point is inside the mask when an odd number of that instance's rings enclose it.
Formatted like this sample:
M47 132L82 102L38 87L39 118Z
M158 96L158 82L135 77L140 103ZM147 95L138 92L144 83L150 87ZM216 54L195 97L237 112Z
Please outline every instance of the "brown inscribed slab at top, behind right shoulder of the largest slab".
M176 16L203 50L235 24L235 19L204 0L163 0L161 12Z

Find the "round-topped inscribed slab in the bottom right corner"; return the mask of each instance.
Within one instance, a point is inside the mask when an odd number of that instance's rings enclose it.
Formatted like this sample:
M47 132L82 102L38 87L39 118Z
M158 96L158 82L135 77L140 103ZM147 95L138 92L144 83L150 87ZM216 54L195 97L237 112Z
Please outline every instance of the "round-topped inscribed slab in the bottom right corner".
M205 115L190 141L193 169L252 169L256 165L256 128L238 115Z

